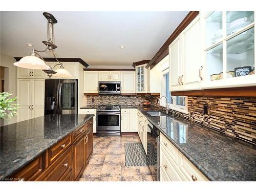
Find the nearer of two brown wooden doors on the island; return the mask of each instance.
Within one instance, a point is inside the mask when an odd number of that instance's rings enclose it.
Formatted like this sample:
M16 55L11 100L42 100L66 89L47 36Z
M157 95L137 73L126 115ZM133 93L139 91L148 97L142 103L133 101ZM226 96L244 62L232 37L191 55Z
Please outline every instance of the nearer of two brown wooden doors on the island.
M74 143L74 179L80 175L81 170L86 165L86 144L83 136Z

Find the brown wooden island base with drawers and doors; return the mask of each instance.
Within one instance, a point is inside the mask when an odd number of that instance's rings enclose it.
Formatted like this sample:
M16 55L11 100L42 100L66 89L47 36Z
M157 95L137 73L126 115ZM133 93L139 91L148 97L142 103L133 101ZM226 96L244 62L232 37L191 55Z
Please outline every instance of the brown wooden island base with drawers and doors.
M11 177L24 181L77 181L92 152L93 117Z

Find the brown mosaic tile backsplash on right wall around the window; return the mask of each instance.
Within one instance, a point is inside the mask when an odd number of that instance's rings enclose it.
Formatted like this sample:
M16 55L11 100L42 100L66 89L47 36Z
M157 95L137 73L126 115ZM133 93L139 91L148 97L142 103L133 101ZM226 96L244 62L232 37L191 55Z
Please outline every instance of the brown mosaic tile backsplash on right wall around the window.
M152 96L152 105L165 110L157 103L158 99L158 96ZM204 104L208 105L207 115L203 113ZM188 97L188 114L184 117L256 144L256 97Z

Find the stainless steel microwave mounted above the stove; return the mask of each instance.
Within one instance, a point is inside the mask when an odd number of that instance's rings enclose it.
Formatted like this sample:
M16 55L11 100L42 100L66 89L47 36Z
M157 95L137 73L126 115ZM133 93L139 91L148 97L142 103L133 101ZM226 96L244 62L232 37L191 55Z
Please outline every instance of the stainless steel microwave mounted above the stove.
M121 82L99 81L99 94L121 94Z

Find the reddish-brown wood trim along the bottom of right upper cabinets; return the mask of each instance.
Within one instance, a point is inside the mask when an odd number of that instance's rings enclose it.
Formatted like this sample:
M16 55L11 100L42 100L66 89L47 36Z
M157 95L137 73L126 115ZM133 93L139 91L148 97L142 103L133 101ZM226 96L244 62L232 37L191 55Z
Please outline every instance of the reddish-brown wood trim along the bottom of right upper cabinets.
M176 91L173 96L226 96L226 97L256 97L256 86L240 88L204 89L195 91Z

